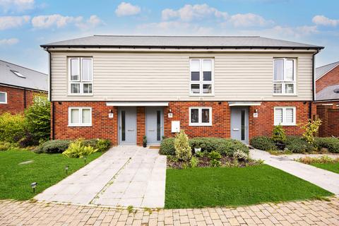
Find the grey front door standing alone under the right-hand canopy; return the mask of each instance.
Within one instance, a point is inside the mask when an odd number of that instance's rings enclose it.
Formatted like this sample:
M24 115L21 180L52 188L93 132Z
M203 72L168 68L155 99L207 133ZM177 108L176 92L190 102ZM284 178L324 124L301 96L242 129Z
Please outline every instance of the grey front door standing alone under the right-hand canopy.
M231 138L249 143L248 107L231 107Z

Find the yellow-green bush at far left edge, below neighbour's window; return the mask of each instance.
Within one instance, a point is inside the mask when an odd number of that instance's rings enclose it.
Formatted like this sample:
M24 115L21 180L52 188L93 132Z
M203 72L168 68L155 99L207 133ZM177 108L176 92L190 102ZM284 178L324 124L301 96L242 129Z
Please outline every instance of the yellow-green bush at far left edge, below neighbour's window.
M15 143L25 136L25 118L23 114L0 115L0 141Z

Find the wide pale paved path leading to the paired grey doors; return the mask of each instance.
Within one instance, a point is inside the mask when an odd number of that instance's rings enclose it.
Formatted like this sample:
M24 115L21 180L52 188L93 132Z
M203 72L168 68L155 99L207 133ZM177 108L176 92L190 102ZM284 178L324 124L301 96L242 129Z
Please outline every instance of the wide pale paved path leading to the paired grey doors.
M38 201L162 208L166 157L157 149L118 146L35 196Z

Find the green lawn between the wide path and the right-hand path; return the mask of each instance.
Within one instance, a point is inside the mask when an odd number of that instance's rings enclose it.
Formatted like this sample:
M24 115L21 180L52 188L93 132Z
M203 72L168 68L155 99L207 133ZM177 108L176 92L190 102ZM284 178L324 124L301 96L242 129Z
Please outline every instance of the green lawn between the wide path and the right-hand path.
M331 195L268 165L167 169L165 208L244 206Z

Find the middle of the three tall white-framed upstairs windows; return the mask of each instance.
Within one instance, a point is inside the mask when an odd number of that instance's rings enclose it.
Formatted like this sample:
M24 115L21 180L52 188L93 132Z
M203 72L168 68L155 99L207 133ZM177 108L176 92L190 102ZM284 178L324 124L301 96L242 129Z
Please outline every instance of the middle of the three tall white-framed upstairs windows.
M196 59L189 61L190 95L214 94L214 59Z

